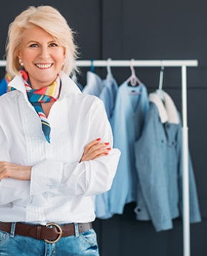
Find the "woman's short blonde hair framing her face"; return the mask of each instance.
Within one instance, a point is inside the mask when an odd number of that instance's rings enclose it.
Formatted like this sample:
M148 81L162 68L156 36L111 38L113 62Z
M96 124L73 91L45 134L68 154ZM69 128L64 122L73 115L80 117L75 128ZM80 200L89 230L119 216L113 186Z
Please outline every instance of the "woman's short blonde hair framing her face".
M62 70L68 75L77 70L75 66L77 45L74 44L73 32L66 19L52 6L29 6L9 25L6 40L6 71L11 77L16 76L21 68L17 55L21 45L22 32L24 29L34 26L44 29L64 47L65 61Z

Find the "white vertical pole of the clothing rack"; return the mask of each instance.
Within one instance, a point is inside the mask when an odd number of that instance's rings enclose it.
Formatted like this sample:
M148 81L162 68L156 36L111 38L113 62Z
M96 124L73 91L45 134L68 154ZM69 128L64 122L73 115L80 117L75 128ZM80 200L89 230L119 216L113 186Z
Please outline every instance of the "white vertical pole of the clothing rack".
M191 255L191 234L189 214L189 175L188 175L188 122L187 122L187 69L182 73L182 113L183 113L183 256Z

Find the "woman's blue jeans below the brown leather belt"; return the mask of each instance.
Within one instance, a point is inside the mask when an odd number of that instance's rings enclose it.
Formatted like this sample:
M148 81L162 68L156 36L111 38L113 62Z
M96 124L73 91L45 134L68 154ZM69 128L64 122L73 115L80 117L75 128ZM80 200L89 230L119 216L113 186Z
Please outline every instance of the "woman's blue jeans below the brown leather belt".
M94 229L62 237L58 242L49 244L44 240L23 237L0 230L1 256L98 256L97 238Z

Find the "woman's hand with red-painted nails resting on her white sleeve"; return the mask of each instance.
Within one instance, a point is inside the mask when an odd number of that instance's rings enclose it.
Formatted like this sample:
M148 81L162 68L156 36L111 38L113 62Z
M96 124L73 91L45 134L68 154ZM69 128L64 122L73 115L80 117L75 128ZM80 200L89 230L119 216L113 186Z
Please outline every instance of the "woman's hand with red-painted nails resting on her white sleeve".
M80 163L108 155L109 151L111 150L109 147L109 142L100 143L100 140L101 139L98 138L85 146Z

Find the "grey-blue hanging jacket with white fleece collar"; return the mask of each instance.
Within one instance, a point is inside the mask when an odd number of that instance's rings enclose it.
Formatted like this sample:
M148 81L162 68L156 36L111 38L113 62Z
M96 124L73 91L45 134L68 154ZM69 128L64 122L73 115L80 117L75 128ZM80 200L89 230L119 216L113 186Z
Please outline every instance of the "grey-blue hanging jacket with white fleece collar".
M173 228L182 216L183 150L180 114L167 93L164 104L150 93L150 108L140 138L135 142L138 173L138 220L152 220L157 232ZM196 182L189 154L190 221L201 221Z

